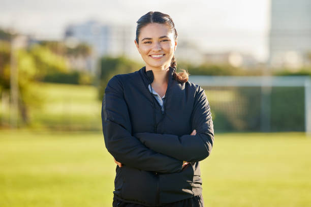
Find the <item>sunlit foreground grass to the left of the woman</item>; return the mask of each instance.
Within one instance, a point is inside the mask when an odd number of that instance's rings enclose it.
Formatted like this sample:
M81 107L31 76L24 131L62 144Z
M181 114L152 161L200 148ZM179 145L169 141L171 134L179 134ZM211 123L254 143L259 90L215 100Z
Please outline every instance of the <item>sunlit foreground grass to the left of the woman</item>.
M0 206L110 206L115 165L100 133L1 132L0 152Z

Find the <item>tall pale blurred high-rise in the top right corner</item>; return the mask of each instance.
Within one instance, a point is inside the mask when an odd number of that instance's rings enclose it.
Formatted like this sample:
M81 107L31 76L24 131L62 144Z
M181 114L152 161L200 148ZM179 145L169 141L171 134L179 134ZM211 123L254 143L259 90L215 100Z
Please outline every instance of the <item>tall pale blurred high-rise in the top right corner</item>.
M310 65L311 1L271 0L270 21L270 66Z

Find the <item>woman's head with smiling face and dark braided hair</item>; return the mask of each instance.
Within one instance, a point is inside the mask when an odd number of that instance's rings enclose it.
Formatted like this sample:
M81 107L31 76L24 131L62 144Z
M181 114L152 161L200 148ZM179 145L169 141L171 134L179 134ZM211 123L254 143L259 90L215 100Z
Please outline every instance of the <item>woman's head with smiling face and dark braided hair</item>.
M176 68L174 52L177 47L177 37L174 22L167 14L148 12L137 21L135 45L146 63L146 70L149 68L151 70L152 67ZM150 58L157 61L152 61ZM174 77L179 82L188 80L188 73L182 71L174 73Z

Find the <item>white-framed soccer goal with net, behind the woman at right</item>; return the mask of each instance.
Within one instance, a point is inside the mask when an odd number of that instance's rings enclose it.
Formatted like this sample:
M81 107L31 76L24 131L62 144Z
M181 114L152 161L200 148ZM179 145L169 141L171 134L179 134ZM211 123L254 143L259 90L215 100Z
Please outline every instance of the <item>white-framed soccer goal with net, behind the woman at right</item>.
M228 109L224 113L231 114L232 122L235 122L234 116L238 114L238 111L253 113L251 117L248 117L246 123L242 123L243 120L240 120L240 126L236 119L236 127L240 127L240 129L246 129L247 127L243 128L243 125L247 125L253 121L255 122L257 119L257 125L260 131L278 131L278 129L280 129L279 131L286 131L280 127L282 124L284 124L284 129L289 130L291 126L297 124L298 126L295 128L297 130L293 131L311 133L311 80L309 76L191 75L189 81L199 84L204 88L207 99L211 104L211 109L221 107L227 101ZM220 90L220 88L222 89ZM226 93L224 93L224 88L227 90ZM240 92L239 96L236 96L234 93L229 93L228 88L242 88L244 91ZM248 93L245 92L245 88L250 88ZM279 93L276 93L276 91ZM221 98L217 96L217 93L223 93ZM290 93L292 93L291 97L287 97L287 99L283 98L284 95L289 96ZM233 101L234 99L239 100ZM245 109L245 104L243 105L246 99L249 102L248 109ZM231 103L239 102L240 104L237 105L240 106L235 107L234 104L230 104L230 101ZM282 108L284 104L287 105ZM292 113L290 113L291 111ZM216 116L220 117L217 114ZM230 115L228 117L230 118ZM243 119L244 116L241 117ZM289 122L291 119L292 123ZM297 119L297 121L293 119ZM288 122L287 126L286 121ZM277 124L273 125L273 123ZM255 129L256 127L253 128Z

